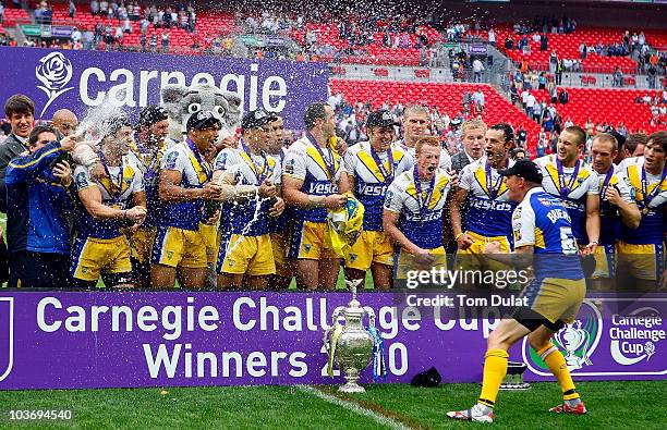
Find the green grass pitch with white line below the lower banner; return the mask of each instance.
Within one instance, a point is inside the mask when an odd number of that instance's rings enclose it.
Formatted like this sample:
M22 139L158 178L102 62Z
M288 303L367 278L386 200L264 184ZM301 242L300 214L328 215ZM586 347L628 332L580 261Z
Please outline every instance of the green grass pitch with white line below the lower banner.
M501 392L496 407L498 429L664 429L667 384L655 382L580 382L589 407L585 416L555 416L548 408L560 398L556 383L536 383L525 392ZM480 428L445 417L471 406L477 384L444 384L438 389L378 384L365 394L339 395L405 428ZM3 428L230 428L230 429L383 429L373 417L317 397L295 386L171 388L132 390L57 390L0 392ZM71 409L68 422L10 422L9 409Z

